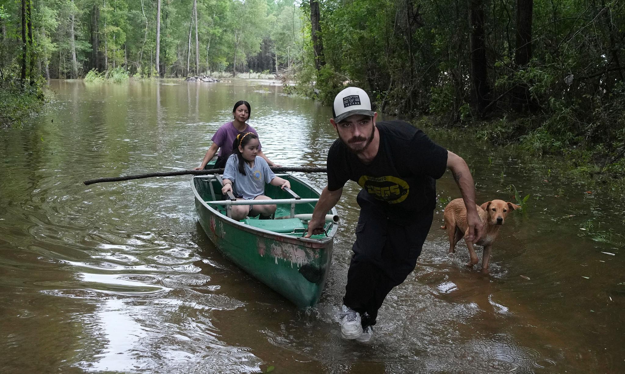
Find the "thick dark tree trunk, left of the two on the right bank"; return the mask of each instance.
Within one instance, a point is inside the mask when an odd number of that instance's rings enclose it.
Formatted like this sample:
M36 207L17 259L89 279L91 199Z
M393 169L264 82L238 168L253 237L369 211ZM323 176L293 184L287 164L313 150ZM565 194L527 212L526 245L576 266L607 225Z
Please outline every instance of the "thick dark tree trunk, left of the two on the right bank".
M488 105L491 88L488 84L486 66L486 43L484 41L484 4L483 0L469 0L469 19L471 22L471 81L477 112L484 116Z

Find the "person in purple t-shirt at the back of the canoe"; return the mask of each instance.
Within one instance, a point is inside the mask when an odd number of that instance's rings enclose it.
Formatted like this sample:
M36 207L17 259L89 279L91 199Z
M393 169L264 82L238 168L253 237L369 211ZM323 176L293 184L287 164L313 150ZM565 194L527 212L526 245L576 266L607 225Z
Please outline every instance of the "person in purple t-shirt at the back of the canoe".
M251 109L249 106L249 102L241 100L237 101L236 104L234 104L234 108L232 108L232 116L234 116L234 120L222 124L221 127L217 129L217 132L212 135L211 140L213 143L211 147L206 151L206 155L204 155L204 159L202 160L201 164L199 164L199 166L196 167L194 170L205 169L206 164L208 164L208 162L212 160L212 157L217 153L217 150L219 150L219 154L217 155L217 162L215 163L214 167L215 169L220 169L224 167L224 165L226 165L226 160L232 154L232 152L234 152L234 149L231 149L230 145L234 142L234 138L237 135L245 134L246 132L252 132L254 135L256 135L256 137L258 136L256 130L254 130L254 127L251 127L245 122L247 121L247 119L249 119L250 113ZM267 159L267 156L261 151L260 143L258 144L258 155L266 160L267 164L271 166L280 166L274 164L269 159Z

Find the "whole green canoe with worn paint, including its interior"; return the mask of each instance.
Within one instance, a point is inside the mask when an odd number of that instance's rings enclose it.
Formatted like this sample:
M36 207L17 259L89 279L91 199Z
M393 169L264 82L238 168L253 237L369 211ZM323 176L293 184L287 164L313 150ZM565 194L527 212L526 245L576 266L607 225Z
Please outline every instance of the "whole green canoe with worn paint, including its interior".
M227 217L228 208L223 204L232 202L222 200L221 182L213 175L191 179L196 211L206 235L232 262L297 307L312 307L330 268L332 240L338 228L336 209L327 212L326 233L305 239L306 220L321 192L291 174L279 176L289 180L292 192L298 195L296 199L279 187L266 185L265 195L277 200L273 204L277 204L275 217L279 219L236 221Z

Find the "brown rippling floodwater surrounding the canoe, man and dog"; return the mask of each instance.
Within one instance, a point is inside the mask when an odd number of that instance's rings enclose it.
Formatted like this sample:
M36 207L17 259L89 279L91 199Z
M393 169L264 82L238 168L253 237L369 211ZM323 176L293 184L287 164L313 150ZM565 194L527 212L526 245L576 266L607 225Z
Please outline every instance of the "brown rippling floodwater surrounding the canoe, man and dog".
M50 86L45 114L0 129L2 373L625 372L625 208L549 160L429 132L467 161L480 204L530 197L484 275L464 267L463 241L446 255L442 209L459 197L447 172L416 270L359 345L337 324L355 183L337 205L326 288L306 311L217 252L189 177L82 183L196 167L241 99L271 160L322 166L336 139L329 107L248 81Z

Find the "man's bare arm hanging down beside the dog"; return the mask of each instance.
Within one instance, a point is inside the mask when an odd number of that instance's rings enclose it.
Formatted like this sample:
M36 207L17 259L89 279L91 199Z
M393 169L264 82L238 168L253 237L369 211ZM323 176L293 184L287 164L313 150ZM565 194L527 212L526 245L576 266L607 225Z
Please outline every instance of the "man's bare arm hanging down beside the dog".
M449 169L454 176L454 180L462 194L464 206L467 209L469 234L464 237L464 240L466 242L475 243L479 241L484 233L484 224L482 224L482 220L479 219L479 215L477 215L475 184L473 182L473 177L471 177L471 171L462 157L449 150L447 150L447 169Z

